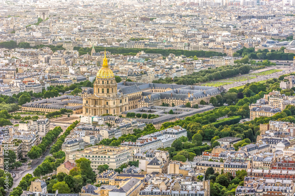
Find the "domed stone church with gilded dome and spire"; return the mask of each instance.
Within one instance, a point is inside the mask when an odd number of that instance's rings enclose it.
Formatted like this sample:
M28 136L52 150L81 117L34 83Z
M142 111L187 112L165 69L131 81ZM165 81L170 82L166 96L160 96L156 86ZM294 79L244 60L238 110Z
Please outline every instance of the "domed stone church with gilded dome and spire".
M128 96L117 92L117 82L104 53L102 68L97 72L94 82L94 93L83 98L83 115L120 115L126 110Z

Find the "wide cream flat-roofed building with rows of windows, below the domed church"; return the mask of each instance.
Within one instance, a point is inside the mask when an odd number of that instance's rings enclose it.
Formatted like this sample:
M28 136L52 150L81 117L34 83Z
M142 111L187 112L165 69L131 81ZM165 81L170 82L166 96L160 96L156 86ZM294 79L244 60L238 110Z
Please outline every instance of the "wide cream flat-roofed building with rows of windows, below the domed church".
M136 153L135 148L121 146L91 146L84 150L75 151L66 154L66 160L74 162L76 159L84 157L91 161L91 168L98 173L97 167L99 165L109 165L110 168L116 169L122 164L133 161L133 156Z

